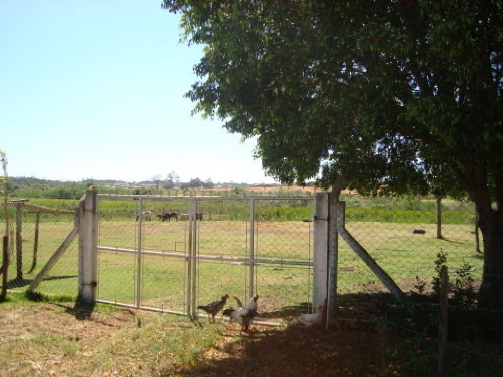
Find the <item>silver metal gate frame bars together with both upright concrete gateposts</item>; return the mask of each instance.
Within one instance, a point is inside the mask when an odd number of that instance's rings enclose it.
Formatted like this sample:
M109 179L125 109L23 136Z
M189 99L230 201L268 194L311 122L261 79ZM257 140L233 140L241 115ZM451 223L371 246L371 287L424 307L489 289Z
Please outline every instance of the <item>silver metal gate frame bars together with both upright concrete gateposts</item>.
M108 195L105 195L108 196ZM138 242L138 271L141 270L141 258L144 252L142 251L141 245L141 223L142 223L142 202L144 199L162 199L159 196L137 196L137 195L115 195L112 197L123 197L123 198L138 198L139 199L139 237ZM190 196L190 197L165 197L167 198L178 198L178 199L189 199L190 201L190 214L189 214L189 224L188 224L188 236L187 236L187 297L186 297L186 313L187 316L196 316L196 290L197 285L195 281L197 279L197 263L199 259L221 259L221 260L232 260L232 261L242 261L247 262L250 266L249 271L249 294L253 296L254 294L254 263L264 263L271 262L269 260L256 259L254 255L255 251L255 235L254 235L254 224L255 224L255 201L256 200L314 200L314 239L313 239L313 261L312 262L297 262L295 264L308 264L313 266L314 274L314 284L313 284L313 307L324 306L327 299L327 292L333 293L333 289L328 289L328 192L316 193L315 198L307 197L244 197L244 198L220 198L220 197L204 197L205 200L222 200L222 199L232 199L232 200L247 200L250 201L250 252L246 258L233 258L233 257L213 257L213 256L199 256L197 255L197 201L201 199L200 197ZM94 186L90 186L86 190L85 196L80 201L79 206L79 279L78 279L78 292L79 298L83 302L94 303L97 301L97 256L98 256L98 193ZM101 248L100 248L101 249ZM337 249L337 248L336 248ZM126 251L126 250L123 250ZM131 250L132 252L132 250ZM150 254L148 252L148 254ZM244 260L245 259L245 260ZM331 258L333 260L333 258ZM330 264L330 266L332 266ZM136 305L128 304L118 304L127 307L136 307L138 309L153 310L153 308L143 308L141 305L141 272L137 275L137 297ZM333 270L332 276L335 275L335 270ZM102 300L100 300L102 301ZM103 301L107 302L107 301ZM329 301L333 305L334 300ZM116 303L117 304L117 303ZM326 306L325 306L326 307ZM328 307L326 307L328 311ZM159 310L162 311L162 310ZM173 312L170 312L173 313ZM177 313L181 314L181 313ZM268 324L268 323L264 323Z

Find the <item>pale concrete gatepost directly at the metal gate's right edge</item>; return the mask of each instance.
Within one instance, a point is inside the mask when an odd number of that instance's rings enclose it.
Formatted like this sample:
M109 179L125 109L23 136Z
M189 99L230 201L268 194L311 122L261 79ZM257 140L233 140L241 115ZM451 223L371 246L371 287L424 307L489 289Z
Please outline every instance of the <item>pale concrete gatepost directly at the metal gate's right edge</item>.
M314 214L314 309L325 304L328 283L328 204L329 193L316 193Z

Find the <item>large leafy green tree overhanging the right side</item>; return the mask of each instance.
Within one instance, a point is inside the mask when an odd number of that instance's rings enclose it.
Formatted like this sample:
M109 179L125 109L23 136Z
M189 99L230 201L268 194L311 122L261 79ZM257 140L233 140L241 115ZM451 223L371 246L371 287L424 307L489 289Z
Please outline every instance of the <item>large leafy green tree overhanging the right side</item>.
M425 192L439 172L473 199L479 305L503 309L502 1L165 0L204 45L196 112L258 136L285 182L342 174ZM438 177L437 177L438 178Z

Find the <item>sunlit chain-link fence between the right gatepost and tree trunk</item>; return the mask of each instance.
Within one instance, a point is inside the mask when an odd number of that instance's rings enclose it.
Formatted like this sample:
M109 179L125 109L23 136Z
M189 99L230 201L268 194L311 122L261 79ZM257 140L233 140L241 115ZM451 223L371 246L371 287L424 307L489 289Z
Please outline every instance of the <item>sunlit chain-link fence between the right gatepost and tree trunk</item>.
M404 292L432 290L438 254L455 271L468 268L480 281L483 248L477 248L473 203L424 198L342 195L346 229ZM440 219L440 221L439 221ZM387 291L340 239L338 293Z

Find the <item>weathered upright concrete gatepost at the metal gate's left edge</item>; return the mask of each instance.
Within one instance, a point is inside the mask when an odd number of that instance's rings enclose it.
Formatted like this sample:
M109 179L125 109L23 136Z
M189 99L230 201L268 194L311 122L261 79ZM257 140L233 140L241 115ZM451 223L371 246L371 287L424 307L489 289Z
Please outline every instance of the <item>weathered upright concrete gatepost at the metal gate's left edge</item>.
M96 188L90 186L79 205L78 295L86 303L96 300L97 202Z

